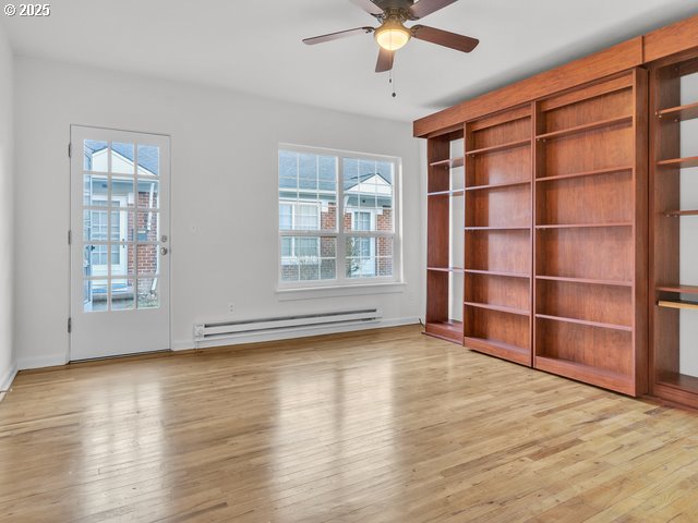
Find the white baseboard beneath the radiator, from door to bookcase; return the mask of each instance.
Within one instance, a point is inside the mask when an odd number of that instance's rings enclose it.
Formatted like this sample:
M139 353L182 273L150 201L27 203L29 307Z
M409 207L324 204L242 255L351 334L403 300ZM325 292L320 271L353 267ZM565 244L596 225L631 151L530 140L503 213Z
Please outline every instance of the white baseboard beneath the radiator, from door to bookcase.
M286 329L274 332L257 332L243 336L220 337L213 340L194 342L193 340L181 340L172 343L173 351L186 351L191 349L210 349L214 346L239 345L242 343L260 343L264 341L290 340L293 338L308 338L318 335L336 335L341 332L352 332L357 330L383 329L386 327L399 327L402 325L419 324L419 318L395 318L382 319L381 321L361 321L357 324L330 325L318 327L304 327L300 329Z

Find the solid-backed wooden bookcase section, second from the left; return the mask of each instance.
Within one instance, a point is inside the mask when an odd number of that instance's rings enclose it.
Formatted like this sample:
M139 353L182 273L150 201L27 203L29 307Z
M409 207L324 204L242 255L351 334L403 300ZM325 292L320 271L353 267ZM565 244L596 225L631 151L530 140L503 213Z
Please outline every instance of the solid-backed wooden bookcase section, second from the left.
M531 365L531 105L466 123L466 346Z

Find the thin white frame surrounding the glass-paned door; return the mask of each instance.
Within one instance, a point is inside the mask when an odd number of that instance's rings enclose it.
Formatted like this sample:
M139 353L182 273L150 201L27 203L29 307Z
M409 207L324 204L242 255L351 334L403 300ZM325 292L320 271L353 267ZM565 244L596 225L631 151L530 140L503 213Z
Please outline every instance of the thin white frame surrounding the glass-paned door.
M121 129L113 127L109 125L98 125L98 124L85 124L85 123L71 123L68 126L68 352L65 354L65 363L70 363L73 361L85 361L85 360L73 360L73 329L72 329L72 314L73 314L73 241L77 238L76 234L82 234L82 231L73 231L73 205L77 205L80 202L74 202L74 190L73 186L73 173L72 173L72 156L73 154L79 154L79 147L73 147L73 129L74 127L83 127L83 129L96 129L100 131L108 132L117 132L117 133L134 133L134 134L145 134L152 136L159 136L161 138L167 138L168 141L168 155L165 165L167 166L167 172L169 174L168 184L169 191L167 191L166 198L163 198L160 194L161 202L164 205L167 205L167 231L168 231L168 250L170 257L169 260L169 277L167 281L167 297L168 297L168 315L167 315L167 340L168 348L165 350L153 350L134 354L123 354L122 356L137 355L137 354L147 354L148 352L171 352L172 351L172 275L173 275L173 263L172 263L172 187L173 187L173 177L172 177L172 135L165 132L149 132L149 131L137 131L133 129ZM163 160L160 160L163 161ZM136 174L139 170L139 166L134 166ZM137 191L137 186L135 187ZM136 210L137 216L137 210ZM161 218L161 215L160 215ZM137 232L134 231L134 234ZM134 276L134 281L137 284L137 275ZM134 297L135 300L135 297ZM97 356L92 360L105 360L110 357L121 357L121 355L117 356Z

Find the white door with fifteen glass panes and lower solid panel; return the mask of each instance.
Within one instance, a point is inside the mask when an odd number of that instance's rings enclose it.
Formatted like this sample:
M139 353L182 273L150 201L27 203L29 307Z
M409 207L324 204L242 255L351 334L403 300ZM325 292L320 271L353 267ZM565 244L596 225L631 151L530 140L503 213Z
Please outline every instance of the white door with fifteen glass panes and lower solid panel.
M169 137L71 127L71 360L170 349Z

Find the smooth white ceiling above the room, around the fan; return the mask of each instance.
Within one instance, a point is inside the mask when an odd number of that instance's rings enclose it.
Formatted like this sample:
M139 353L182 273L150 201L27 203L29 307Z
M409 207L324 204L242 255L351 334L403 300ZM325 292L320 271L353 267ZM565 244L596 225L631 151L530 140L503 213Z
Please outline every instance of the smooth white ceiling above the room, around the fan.
M4 2L3 2L4 3ZM410 121L697 14L698 0L460 0L422 21L480 38L470 54L412 40L387 74L371 35L301 38L375 20L349 0L52 0L0 16L17 54L226 86Z

